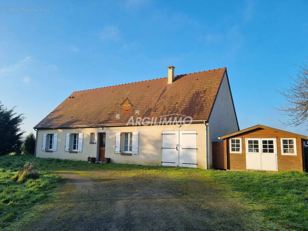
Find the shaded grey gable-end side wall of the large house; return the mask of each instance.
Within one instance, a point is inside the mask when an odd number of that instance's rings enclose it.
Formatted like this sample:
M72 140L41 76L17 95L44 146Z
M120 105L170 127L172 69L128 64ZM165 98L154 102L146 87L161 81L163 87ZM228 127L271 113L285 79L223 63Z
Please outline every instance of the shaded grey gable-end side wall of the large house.
M238 131L231 92L225 73L209 118L209 165L212 166L212 142L222 142L218 137Z

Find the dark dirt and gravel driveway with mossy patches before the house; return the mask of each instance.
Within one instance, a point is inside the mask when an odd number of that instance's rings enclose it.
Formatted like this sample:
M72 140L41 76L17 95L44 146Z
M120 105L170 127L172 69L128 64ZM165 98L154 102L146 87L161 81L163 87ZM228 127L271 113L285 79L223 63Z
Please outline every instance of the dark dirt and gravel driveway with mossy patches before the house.
M60 201L24 230L260 230L210 183L89 173L60 172L67 178Z

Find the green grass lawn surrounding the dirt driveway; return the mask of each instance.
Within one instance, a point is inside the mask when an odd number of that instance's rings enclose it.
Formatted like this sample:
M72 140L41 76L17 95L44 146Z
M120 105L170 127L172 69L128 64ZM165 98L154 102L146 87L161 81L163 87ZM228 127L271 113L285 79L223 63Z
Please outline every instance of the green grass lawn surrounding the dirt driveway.
M34 161L39 179L17 183L12 176L22 166ZM0 157L0 228L23 220L35 208L55 200L60 188L59 170L118 172L123 176L164 174L179 184L196 179L210 180L215 187L224 188L228 197L237 197L252 213L263 217L263 222L290 230L308 230L308 174L296 171L231 172L142 166L129 164L89 164L85 161L42 159L33 156ZM88 174L88 173L86 173Z

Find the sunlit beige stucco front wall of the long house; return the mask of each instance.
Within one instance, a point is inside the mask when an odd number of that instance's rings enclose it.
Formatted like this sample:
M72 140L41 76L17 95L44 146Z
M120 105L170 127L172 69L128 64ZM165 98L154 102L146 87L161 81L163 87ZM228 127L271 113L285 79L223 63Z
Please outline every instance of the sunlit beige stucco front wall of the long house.
M182 125L178 128L176 125L160 126L122 126L122 127L104 127L100 128L65 128L65 129L41 129L38 130L36 156L42 158L59 158L70 160L87 160L88 156L98 158L98 133L106 132L106 151L105 157L111 158L112 163L122 164L143 164L143 165L161 165L162 161L162 131L176 130L196 130L197 131L197 167L206 169L206 145L205 145L205 124L193 123ZM90 133L95 133L96 144L89 144ZM139 154L132 156L121 156L115 154L115 132L139 132ZM43 134L58 133L58 147L56 152L42 151ZM83 151L78 153L65 152L66 133L83 133ZM123 140L123 137L121 137ZM121 148L121 151L123 147Z

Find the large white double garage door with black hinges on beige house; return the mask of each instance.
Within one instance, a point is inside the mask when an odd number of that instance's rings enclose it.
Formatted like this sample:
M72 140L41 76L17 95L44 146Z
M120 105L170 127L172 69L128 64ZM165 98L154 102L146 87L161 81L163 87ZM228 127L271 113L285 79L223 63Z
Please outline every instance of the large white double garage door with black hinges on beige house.
M162 165L197 168L197 131L163 131Z

